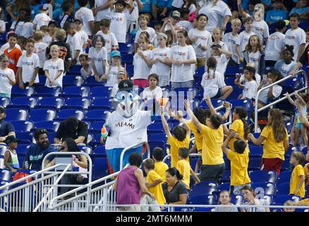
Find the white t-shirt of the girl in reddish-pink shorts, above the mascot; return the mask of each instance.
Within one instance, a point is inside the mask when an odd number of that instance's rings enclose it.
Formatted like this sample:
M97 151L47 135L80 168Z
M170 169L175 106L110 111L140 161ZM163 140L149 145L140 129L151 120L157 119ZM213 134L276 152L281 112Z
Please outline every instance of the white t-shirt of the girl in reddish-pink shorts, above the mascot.
M143 50L144 56L147 59L151 57L151 50ZM133 65L134 65L134 76L133 79L147 79L150 75L150 67L147 65L146 61L136 53L133 57Z

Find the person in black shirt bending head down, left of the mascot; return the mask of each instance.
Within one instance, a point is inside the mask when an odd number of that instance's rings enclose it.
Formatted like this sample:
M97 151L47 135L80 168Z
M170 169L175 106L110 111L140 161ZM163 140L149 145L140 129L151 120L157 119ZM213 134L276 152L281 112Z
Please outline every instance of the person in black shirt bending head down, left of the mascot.
M75 117L61 121L58 131L54 138L54 143L63 143L66 138L72 138L75 143L87 143L88 127L83 121Z

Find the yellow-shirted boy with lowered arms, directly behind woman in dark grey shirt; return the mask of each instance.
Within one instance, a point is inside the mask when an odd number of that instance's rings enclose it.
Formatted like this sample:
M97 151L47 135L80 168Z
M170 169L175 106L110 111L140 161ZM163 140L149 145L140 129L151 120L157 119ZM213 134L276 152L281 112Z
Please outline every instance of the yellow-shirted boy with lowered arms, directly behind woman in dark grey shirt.
M190 167L190 163L187 161L189 155L188 148L181 147L178 151L178 159L176 169L180 172L181 175L183 175L183 179L181 181L186 184L186 187L188 190L190 190L190 174L192 174L193 180L195 184L200 183L200 179L198 179L198 176L195 174L193 169Z

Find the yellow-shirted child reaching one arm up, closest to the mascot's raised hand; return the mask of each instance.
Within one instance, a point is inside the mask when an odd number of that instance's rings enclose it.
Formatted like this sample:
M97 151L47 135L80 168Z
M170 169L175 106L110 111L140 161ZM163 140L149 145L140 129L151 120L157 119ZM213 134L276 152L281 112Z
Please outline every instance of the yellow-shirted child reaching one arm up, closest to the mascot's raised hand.
M171 145L171 167L176 167L178 162L178 150L180 147L189 148L191 131L187 124L178 125L173 128L174 136L172 136L171 132L169 131L169 125L164 118L163 107L161 107L160 114L163 128L167 136L167 143Z

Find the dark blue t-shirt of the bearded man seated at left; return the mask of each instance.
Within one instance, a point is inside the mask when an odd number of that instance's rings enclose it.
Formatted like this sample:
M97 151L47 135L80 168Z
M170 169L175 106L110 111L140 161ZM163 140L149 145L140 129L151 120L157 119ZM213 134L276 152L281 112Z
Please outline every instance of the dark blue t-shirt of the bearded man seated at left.
M39 148L39 145L33 143L28 148L28 151L25 155L25 161L27 160L28 164L32 165L31 169L40 170L42 167L42 161L44 157L48 153L54 153L54 152L56 152L56 149L52 145L49 145L47 149L42 150ZM54 156L47 157L47 160L49 160L49 162L52 161L53 159L54 159Z

